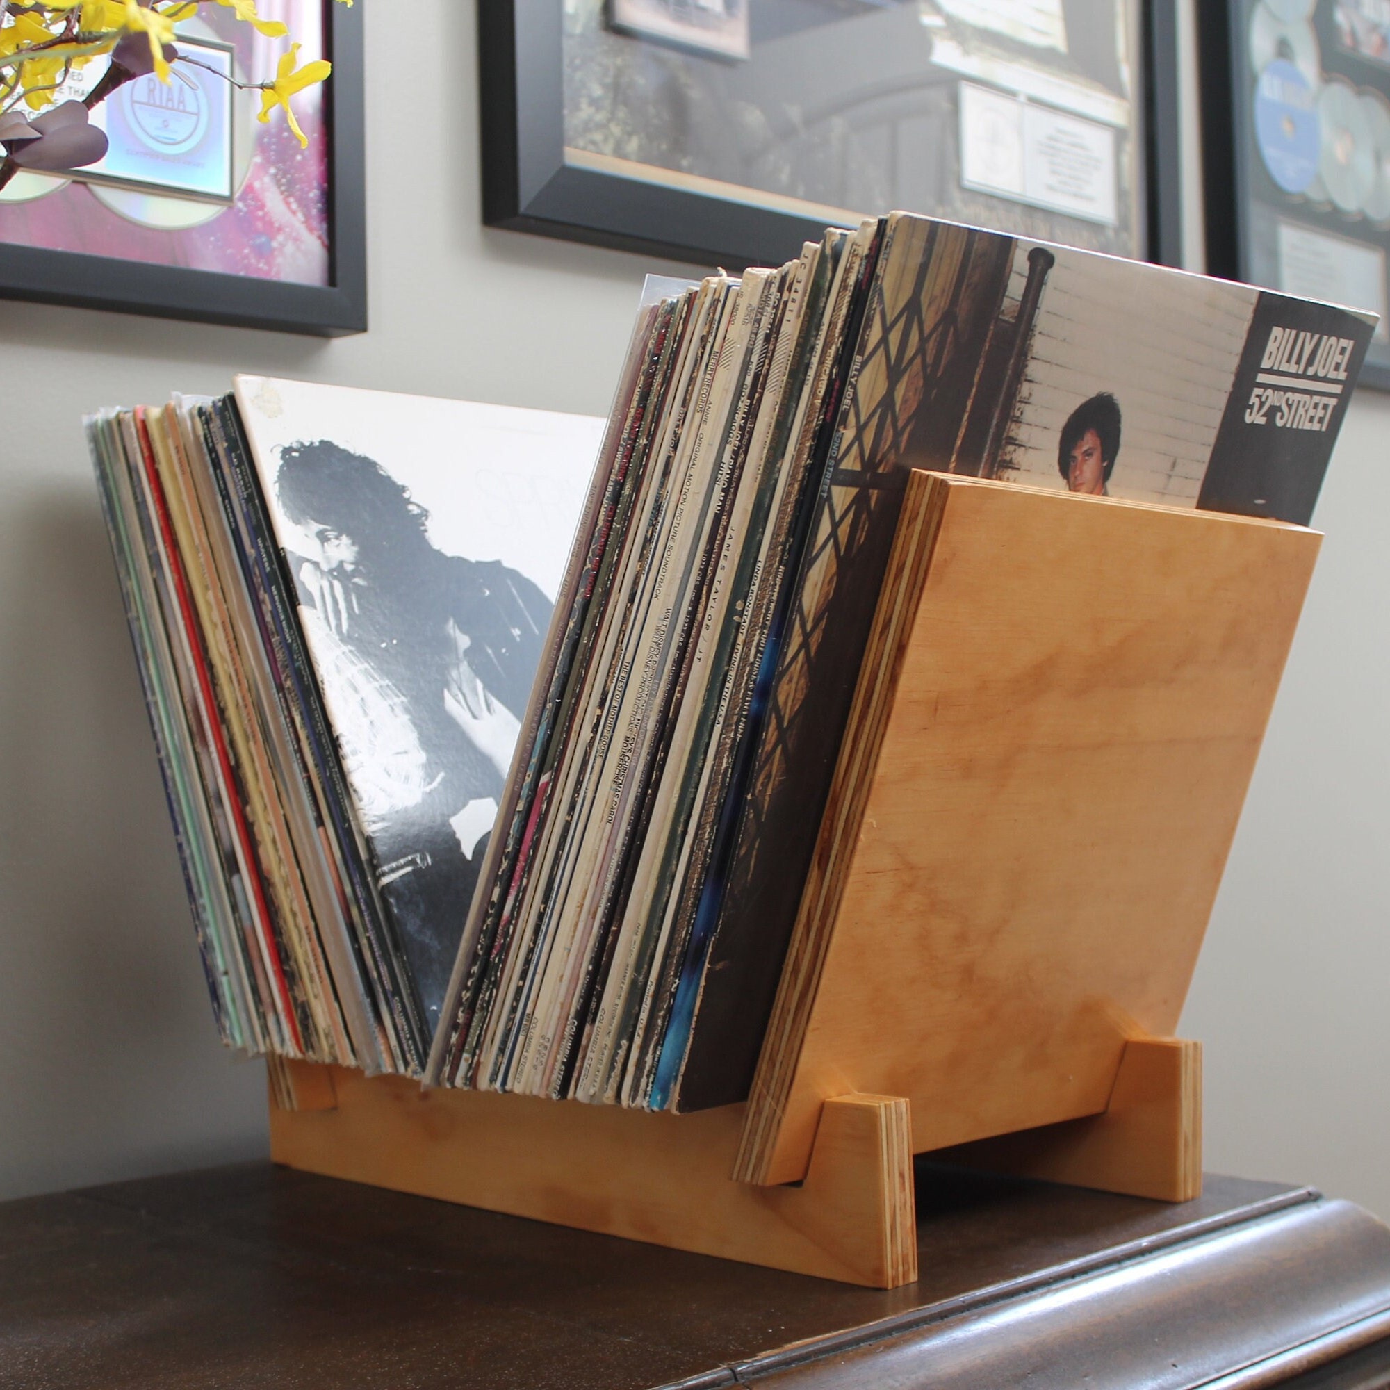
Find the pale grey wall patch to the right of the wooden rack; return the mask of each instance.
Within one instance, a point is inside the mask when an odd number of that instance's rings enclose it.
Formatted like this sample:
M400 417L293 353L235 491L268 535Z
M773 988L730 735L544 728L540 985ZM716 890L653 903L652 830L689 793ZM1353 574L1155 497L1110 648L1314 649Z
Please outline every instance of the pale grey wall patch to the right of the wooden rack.
M1183 1030L1207 1166L1390 1218L1390 396L1361 392Z

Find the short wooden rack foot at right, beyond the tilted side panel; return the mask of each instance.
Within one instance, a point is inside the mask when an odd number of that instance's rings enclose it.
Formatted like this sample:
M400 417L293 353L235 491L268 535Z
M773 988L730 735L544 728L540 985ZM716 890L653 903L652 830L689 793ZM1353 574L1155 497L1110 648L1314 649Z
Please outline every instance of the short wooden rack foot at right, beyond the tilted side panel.
M1131 1197L1190 1201L1202 1191L1201 1044L1131 1038L1104 1113L931 1156Z

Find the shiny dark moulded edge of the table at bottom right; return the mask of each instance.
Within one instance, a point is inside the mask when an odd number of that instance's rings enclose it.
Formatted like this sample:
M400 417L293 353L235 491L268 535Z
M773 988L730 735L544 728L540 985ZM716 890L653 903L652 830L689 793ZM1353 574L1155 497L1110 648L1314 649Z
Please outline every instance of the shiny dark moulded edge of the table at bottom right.
M1380 1343L1390 1377L1390 1229L1298 1188L666 1390L1258 1390Z

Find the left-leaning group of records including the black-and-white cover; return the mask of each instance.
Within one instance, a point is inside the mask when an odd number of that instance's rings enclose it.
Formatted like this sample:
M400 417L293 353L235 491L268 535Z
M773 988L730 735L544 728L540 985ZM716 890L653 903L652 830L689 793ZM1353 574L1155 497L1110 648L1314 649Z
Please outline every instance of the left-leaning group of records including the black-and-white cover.
M236 385L88 421L213 1008L418 1073L600 423Z

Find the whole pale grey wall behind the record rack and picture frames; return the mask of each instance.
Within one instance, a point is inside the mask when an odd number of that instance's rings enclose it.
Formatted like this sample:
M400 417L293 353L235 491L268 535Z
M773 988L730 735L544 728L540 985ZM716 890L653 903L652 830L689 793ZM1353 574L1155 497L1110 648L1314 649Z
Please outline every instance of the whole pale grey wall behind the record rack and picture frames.
M364 0L370 53L392 13ZM439 39L411 108L368 72L370 334L0 304L0 1197L265 1152L263 1069L221 1052L203 994L81 414L239 368L602 413L644 271L680 272L484 231L473 7L411 14ZM1184 1029L1209 1166L1390 1216L1387 438L1390 396L1362 393Z

